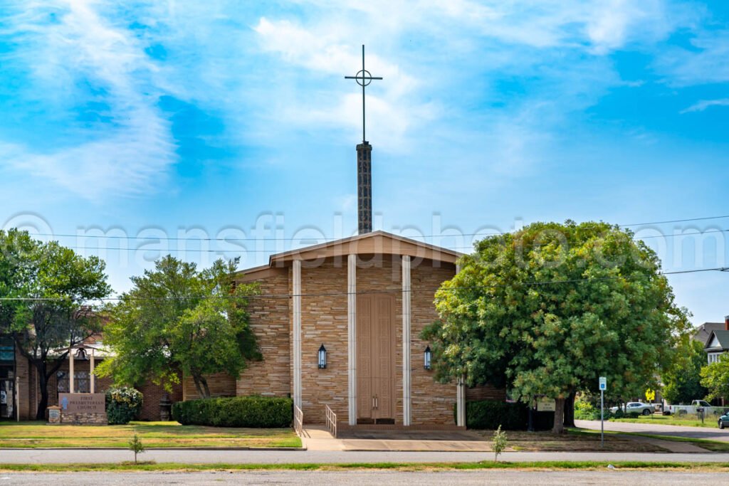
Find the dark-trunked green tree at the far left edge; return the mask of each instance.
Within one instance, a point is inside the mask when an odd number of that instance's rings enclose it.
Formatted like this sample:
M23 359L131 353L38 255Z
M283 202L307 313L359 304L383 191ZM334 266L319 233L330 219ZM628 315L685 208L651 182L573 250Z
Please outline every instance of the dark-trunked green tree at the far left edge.
M106 264L83 257L55 241L42 243L27 232L0 231L0 332L11 334L36 368L40 399L36 418L48 406L47 384L80 344L101 330L88 302L108 296Z

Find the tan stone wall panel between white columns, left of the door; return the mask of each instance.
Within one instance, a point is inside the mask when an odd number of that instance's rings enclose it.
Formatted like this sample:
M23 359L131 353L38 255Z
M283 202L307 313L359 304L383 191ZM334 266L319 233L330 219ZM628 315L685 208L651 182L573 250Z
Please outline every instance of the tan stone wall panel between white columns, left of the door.
M346 421L347 259L316 263L316 267L312 267L312 262L301 265L301 409L305 423L324 423L324 405L332 408L338 421ZM357 281L359 284L359 278ZM290 284L289 279L289 292ZM289 344L293 356L293 340ZM317 360L322 344L327 348L326 369L319 369ZM293 360L290 361L293 377Z

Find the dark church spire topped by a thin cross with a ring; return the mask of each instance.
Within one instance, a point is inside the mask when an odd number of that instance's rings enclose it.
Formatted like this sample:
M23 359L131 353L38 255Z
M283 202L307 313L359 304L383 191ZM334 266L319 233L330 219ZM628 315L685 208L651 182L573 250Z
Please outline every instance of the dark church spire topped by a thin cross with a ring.
M355 79L362 86L362 144L357 144L357 229L360 235L372 232L372 146L365 137L364 119L364 87L370 85L373 77L370 71L364 68L364 45L362 45L362 71L355 76L345 76L345 79Z

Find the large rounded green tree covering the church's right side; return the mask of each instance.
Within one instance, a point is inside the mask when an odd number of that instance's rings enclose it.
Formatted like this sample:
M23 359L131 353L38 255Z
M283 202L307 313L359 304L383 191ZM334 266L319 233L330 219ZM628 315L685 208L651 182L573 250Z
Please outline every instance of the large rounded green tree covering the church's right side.
M436 294L432 342L437 377L506 385L529 401L655 388L687 318L660 262L631 232L605 223L535 223L481 240Z

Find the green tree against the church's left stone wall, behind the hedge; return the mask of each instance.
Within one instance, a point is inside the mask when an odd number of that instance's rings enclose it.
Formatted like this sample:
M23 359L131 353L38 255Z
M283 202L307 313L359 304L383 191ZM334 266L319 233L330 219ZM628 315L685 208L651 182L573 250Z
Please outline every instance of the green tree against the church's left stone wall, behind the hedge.
M206 375L238 377L260 352L246 310L257 286L236 285L237 264L218 260L200 271L165 256L155 270L133 277L132 289L106 310L104 342L115 356L99 374L126 385L151 379L169 389L182 372L203 398L210 396Z

